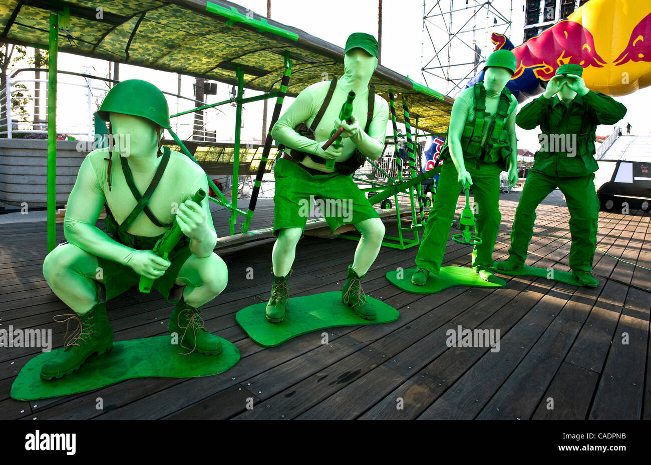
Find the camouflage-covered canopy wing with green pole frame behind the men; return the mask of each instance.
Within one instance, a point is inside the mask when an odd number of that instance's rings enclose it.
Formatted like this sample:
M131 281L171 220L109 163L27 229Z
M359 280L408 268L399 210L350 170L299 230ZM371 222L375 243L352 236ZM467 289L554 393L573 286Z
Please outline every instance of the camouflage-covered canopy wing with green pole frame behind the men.
M214 154L215 150L197 150L196 141L184 143L173 130L167 130L173 138L167 141L167 145L185 153L199 165L230 165L234 181L230 200L206 175L215 193L210 200L225 207L230 214L230 236L220 237L218 247L229 242L244 243L271 237L271 228L250 231L249 225L262 176L270 172L277 148L270 131L267 131L260 153L251 154L241 146L243 105L275 99L270 129L281 114L285 96L297 96L307 86L324 79L324 76L340 76L344 72L342 48L221 0L0 0L0 29L3 42L49 49L48 122L56 121L59 50L234 86L236 92L229 100L171 115L174 118L234 103L234 144L232 148L217 147L221 158L211 159L211 153ZM440 170L437 167L421 172L414 139L445 135L453 100L384 66L378 66L370 85L389 102L395 144L399 139L396 122L405 124L406 135L402 137L406 138L409 156L407 160L395 157L393 163L398 166L394 176L378 163L367 161L372 166L372 172L381 176L369 176L368 173L360 176L355 173L353 178L367 186L363 190L372 193L372 204L393 205L391 210L395 210L393 214L398 220L398 236L386 236L383 245L407 248L419 244L419 232L425 220L422 183ZM263 94L243 98L245 88ZM402 111L396 111L396 101L400 103ZM419 130L424 134L419 135ZM55 124L48 124L48 252L56 245L56 137ZM193 150L189 150L189 147ZM248 207L238 205L237 179L244 168L255 172ZM409 197L409 207L400 208L399 194ZM383 202L391 198L393 202ZM380 216L387 217L387 211L381 212ZM355 236L348 234L343 237L355 239Z

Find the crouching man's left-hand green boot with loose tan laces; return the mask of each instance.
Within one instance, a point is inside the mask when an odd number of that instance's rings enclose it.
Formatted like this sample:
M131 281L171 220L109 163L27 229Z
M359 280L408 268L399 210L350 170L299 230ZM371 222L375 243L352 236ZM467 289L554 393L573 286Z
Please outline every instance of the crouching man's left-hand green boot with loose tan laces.
M68 317L57 319L57 317ZM92 354L103 354L113 348L113 327L106 315L106 304L96 304L89 312L79 316L57 315L54 321L70 324L77 321L77 328L70 338L64 336L63 352L41 367L40 377L44 380L61 378L79 369ZM78 333L77 333L78 331ZM66 326L66 336L68 330Z

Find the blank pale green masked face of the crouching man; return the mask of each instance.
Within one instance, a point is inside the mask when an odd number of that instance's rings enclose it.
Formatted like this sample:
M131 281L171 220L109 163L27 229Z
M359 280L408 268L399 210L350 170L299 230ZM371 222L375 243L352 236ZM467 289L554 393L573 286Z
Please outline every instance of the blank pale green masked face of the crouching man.
M127 157L152 157L158 152L156 123L141 116L109 113L115 145ZM125 152L126 149L126 152Z

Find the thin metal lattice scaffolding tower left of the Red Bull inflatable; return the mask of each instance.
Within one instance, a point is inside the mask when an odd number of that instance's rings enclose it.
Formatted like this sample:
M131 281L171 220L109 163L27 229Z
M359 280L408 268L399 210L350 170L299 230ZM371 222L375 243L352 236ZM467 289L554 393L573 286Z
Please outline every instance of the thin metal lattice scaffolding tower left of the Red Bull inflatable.
M508 8L508 14L496 5ZM421 73L425 84L438 89L444 81L449 96L458 94L493 51L491 33L510 36L512 13L513 0L423 0Z

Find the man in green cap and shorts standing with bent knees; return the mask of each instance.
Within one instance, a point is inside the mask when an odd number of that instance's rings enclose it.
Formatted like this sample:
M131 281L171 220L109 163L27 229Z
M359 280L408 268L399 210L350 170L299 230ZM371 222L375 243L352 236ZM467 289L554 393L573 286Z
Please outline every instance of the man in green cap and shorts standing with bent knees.
M299 94L279 118L271 135L283 150L278 157L273 230L273 286L266 306L266 319L281 323L289 307L288 278L296 245L307 221L305 209L314 199L346 202L352 207L348 217L342 211L322 212L333 232L354 225L362 237L342 290L342 302L364 319L376 319L374 310L365 306L361 280L378 256L385 229L378 213L353 182L351 175L366 158L380 157L389 119L389 105L376 95L368 83L378 66L378 42L365 33L350 34L344 49L344 75L338 80L312 84ZM352 122L339 119L340 109L353 90ZM322 146L334 127L343 127L343 146ZM335 168L326 166L335 160ZM333 204L334 204L333 203Z

